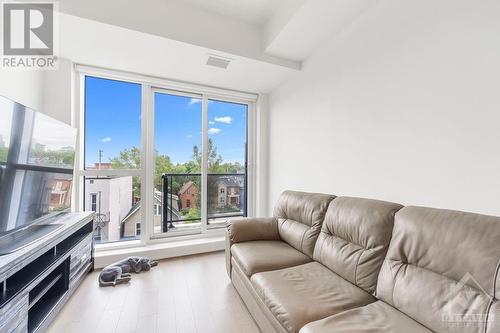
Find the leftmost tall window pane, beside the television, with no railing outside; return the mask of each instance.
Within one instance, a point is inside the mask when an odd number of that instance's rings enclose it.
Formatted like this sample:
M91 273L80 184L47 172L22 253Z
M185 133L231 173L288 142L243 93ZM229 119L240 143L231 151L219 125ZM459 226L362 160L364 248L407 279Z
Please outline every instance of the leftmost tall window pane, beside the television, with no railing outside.
M136 239L141 222L141 85L85 77L84 198L96 241Z

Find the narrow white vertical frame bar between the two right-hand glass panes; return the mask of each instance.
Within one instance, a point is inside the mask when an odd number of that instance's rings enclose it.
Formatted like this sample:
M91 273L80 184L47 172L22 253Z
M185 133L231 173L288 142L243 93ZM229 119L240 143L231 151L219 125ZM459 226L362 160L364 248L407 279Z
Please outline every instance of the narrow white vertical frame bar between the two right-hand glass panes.
M201 232L207 230L207 172L208 172L208 98L202 96L201 112Z

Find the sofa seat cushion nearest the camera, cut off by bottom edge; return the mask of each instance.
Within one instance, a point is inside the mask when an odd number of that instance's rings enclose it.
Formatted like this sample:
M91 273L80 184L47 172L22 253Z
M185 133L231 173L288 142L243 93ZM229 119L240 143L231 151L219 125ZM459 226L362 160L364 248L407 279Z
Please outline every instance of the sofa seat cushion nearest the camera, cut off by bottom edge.
M382 301L314 321L300 333L432 333Z

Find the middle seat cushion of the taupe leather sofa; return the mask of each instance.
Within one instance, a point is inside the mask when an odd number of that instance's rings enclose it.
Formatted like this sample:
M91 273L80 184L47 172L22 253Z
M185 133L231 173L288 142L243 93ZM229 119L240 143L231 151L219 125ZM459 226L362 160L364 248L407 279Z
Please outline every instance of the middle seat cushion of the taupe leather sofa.
M252 275L252 286L288 332L375 298L318 262Z

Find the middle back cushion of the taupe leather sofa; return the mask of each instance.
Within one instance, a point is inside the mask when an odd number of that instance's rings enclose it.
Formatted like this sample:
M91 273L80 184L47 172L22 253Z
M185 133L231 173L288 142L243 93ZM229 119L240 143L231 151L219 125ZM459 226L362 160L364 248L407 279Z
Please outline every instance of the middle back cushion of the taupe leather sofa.
M314 248L314 260L369 293L391 240L399 204L338 197L330 203Z

